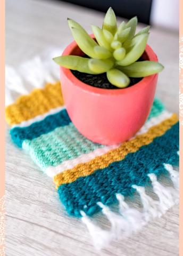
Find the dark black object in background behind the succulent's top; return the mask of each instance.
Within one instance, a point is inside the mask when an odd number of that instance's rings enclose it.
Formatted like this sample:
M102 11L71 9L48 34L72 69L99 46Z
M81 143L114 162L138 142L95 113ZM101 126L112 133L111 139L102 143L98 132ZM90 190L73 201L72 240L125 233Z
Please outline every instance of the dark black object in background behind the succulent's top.
M65 0L65 2L85 6L105 12L111 6L115 14L130 19L137 16L139 22L149 24L153 0Z

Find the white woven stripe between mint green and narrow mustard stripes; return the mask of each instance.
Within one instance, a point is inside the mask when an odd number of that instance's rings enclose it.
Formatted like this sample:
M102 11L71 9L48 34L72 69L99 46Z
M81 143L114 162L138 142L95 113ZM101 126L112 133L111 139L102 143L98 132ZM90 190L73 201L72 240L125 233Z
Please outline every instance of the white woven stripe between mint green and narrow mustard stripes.
M172 113L169 113L168 111L164 110L159 116L152 117L149 121L147 121L144 124L144 126L137 132L136 135L146 133L149 130L149 128L161 123L164 119L167 119L171 116L172 116ZM133 138L135 138L135 137L133 137ZM133 138L131 138L131 139L133 139ZM105 146L103 148L97 148L88 154L82 154L75 159L64 161L60 165L49 166L45 169L45 173L49 177L54 177L56 174L59 174L68 169L72 169L74 166L76 166L79 163L89 162L91 159L95 158L96 156L101 156L101 155L107 153L108 151L110 151L111 149L115 149L118 147L119 147L119 145L112 145L112 146Z

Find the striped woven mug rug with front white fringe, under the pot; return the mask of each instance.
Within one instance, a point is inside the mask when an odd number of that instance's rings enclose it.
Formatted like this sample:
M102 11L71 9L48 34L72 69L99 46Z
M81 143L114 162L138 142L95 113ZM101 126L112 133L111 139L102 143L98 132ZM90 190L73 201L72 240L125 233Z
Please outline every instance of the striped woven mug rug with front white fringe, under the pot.
M120 145L99 145L77 131L64 108L60 82L20 96L6 107L6 121L12 141L53 178L66 211L81 218L99 249L178 203L179 173L173 166L179 159L179 122L158 99L142 129ZM162 185L162 174L170 179L169 187ZM150 187L158 199L148 195ZM127 203L134 194L139 194L142 209ZM95 223L99 211L111 222L110 230Z

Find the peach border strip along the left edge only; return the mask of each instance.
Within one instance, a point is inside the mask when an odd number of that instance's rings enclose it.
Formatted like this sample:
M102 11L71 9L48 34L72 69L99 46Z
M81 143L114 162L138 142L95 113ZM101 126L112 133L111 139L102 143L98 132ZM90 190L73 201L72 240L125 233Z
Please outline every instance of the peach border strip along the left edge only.
M5 209L4 209L4 189L5 189L5 117L4 117L4 78L5 78L5 0L0 1L0 255L5 255Z

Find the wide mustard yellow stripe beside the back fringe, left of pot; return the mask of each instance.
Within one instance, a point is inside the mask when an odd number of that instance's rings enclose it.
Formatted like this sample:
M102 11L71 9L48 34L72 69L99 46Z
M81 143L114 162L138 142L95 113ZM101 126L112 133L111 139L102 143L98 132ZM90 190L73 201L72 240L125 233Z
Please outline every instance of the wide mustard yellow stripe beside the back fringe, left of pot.
M46 84L44 89L35 89L28 95L22 95L15 103L6 107L6 121L10 125L19 124L52 108L63 105L60 82Z

